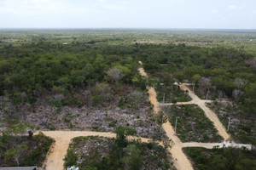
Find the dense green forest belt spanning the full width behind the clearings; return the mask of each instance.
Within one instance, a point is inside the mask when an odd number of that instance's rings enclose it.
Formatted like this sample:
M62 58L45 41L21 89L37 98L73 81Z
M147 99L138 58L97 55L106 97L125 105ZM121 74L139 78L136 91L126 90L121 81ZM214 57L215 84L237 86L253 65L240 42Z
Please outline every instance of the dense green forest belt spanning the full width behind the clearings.
M149 73L167 71L180 82L195 82L201 93L209 89L213 99L227 96L245 112L256 111L255 57L242 48L126 42L134 37L132 31L113 32L110 37L109 31L86 33L80 33L81 37L73 31L66 37L64 32L50 31L2 33L0 94L11 96L14 104L33 102L41 94L65 94L109 81L107 71L113 67L125 74L122 82L139 85L136 69L140 59ZM143 37L143 32L138 35ZM6 42L8 37L10 42ZM16 42L11 42L13 37Z

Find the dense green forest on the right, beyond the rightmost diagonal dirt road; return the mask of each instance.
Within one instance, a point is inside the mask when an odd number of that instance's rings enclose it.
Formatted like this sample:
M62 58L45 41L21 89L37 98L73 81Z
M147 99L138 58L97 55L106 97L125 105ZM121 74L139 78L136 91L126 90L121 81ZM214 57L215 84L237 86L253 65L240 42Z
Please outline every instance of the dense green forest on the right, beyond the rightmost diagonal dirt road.
M148 72L170 72L180 82L195 83L195 88L205 94L209 89L213 99L226 96L247 113L255 111L256 67L249 63L253 55L234 48L200 48L185 44L141 48L147 48L140 58L144 59Z

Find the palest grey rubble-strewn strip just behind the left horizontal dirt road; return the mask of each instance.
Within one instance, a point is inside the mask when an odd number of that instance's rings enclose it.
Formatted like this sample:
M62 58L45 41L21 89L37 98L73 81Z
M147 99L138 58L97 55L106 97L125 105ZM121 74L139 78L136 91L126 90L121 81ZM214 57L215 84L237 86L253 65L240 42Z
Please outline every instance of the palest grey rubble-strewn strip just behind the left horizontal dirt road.
M138 110L111 107L92 110L86 106L71 108L65 106L60 113L55 108L40 106L38 111L26 116L26 122L40 129L94 129L97 131L113 131L117 126L131 127L138 135L152 136L157 126L148 107Z

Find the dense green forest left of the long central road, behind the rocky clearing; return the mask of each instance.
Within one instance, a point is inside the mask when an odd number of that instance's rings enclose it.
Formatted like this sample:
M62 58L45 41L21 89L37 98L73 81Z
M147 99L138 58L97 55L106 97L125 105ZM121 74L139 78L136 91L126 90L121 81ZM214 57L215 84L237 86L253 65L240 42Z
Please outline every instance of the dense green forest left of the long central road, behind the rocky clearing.
M49 92L73 93L96 82L116 81L111 75L107 77L107 71L114 67L124 74L122 82L139 83L137 61L131 50L108 45L73 43L64 46L51 42L3 47L0 94L9 95L14 104L20 104L33 102Z

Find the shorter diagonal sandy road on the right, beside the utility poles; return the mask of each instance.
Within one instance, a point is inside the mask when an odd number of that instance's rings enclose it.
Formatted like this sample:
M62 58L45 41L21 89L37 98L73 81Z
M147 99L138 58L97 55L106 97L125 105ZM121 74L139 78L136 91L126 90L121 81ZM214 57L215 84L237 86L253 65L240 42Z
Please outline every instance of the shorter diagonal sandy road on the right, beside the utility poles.
M219 121L218 116L211 111L207 106L205 105L206 100L198 98L187 86L186 84L181 84L179 87L182 90L188 90L189 91L189 96L192 98L192 102L195 105L198 105L201 107L201 109L205 112L206 116L213 122L214 126L217 128L218 133L220 136L224 138L224 140L229 140L230 135L227 133L225 127L223 124Z

